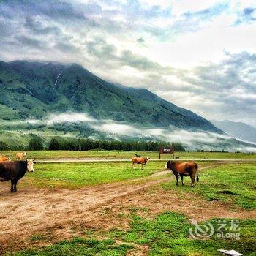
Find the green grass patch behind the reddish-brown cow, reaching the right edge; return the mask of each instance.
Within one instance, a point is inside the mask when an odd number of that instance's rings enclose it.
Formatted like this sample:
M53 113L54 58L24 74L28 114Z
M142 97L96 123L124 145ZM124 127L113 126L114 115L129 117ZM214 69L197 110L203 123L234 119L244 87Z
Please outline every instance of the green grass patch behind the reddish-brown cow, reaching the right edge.
M256 163L232 164L200 171L199 183L193 190L189 187L189 178L185 180L185 187L176 187L175 181L162 184L162 187L181 193L203 195L206 200L221 200L243 208L256 209L255 181Z

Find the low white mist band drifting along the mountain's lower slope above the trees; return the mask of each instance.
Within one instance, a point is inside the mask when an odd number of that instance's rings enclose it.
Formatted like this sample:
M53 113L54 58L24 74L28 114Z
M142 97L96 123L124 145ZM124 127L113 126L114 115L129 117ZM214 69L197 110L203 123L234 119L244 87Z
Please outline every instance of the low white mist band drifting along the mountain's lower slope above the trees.
M104 133L105 138L120 140L121 138L148 138L151 140L165 140L170 142L179 142L187 149L204 150L228 150L228 151L256 151L256 144L246 143L242 140L232 138L230 135L220 135L214 132L205 132L202 130L185 130L176 127L148 128L138 127L125 122L113 120L98 120L86 113L60 113L50 114L45 119L26 120L31 125L65 123L83 123L97 133ZM94 137L97 139L97 137Z

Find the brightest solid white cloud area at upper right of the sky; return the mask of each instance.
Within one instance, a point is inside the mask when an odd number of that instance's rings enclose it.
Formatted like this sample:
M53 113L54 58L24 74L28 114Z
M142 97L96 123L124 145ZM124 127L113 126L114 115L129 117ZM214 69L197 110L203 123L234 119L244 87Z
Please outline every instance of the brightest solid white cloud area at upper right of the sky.
M192 68L209 61L225 59L225 52L256 53L256 23L241 26L211 26L197 32L188 32L175 42L155 42L144 49L150 59L165 66Z

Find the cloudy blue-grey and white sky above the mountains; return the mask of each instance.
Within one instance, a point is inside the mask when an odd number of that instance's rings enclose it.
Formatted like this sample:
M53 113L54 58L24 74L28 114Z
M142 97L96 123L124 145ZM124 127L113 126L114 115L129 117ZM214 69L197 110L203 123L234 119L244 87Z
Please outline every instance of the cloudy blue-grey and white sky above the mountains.
M0 59L76 62L256 127L255 0L1 0Z

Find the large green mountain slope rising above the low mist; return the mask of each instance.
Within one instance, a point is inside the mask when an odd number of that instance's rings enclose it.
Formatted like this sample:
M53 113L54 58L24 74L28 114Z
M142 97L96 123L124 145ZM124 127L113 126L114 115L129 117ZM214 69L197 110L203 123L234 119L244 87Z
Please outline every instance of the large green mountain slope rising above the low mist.
M206 119L152 94L108 83L78 64L0 61L0 118L43 118L67 111L146 127L222 133Z

